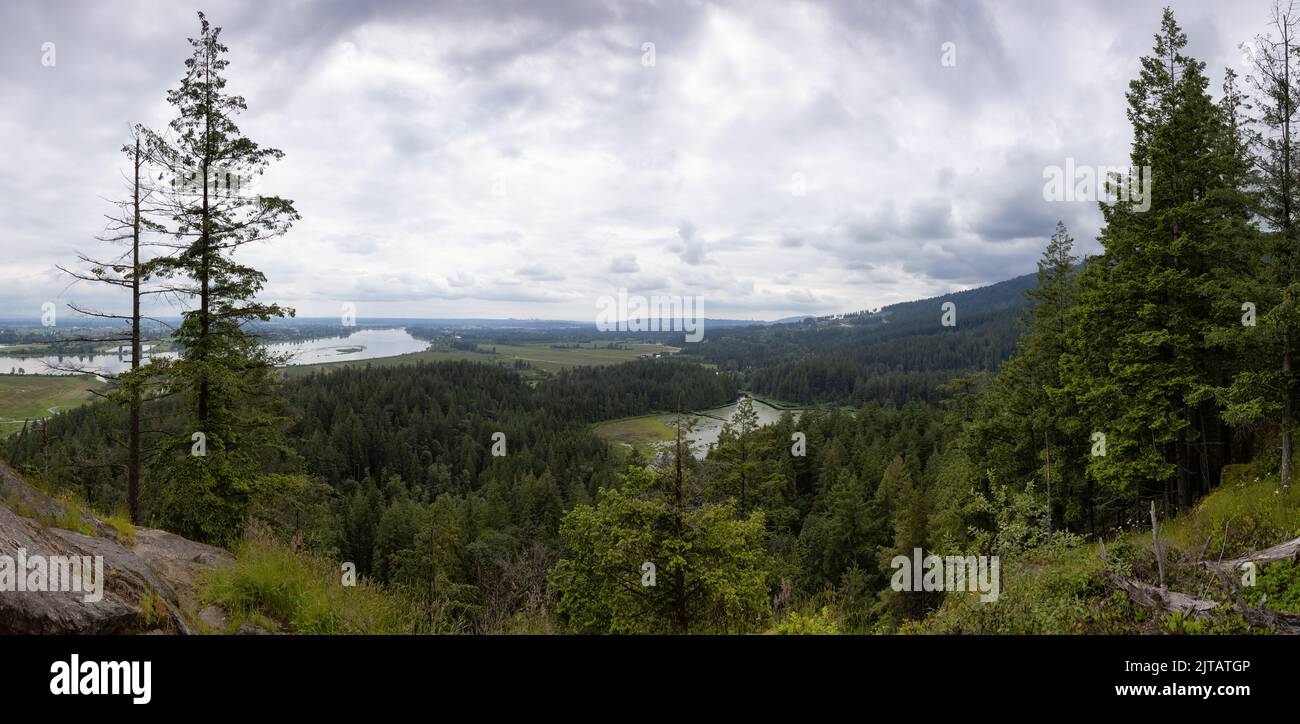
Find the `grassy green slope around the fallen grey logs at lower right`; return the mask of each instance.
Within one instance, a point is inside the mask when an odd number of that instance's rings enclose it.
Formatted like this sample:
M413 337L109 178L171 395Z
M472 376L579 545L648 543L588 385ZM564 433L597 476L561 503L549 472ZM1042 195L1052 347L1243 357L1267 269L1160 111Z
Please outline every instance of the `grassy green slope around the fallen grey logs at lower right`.
M1166 577L1174 590L1200 591L1231 603L1240 591L1248 606L1295 611L1296 567L1290 562L1261 567L1254 586L1223 589L1206 575L1201 560L1232 558L1290 539L1300 520L1300 498L1283 497L1275 477L1256 480L1253 467L1238 465L1225 473L1228 482L1204 498L1196 508L1161 525ZM1217 533L1216 533L1217 530ZM1225 536L1225 530L1227 532ZM996 604L976 598L946 595L924 623L902 628L907 633L1264 633L1247 627L1230 606L1214 616L1187 619L1156 615L1109 585L1108 577L1153 577L1150 530L1138 529L1105 542L1105 562L1097 543L1054 536L1002 559L1001 597ZM1264 597L1268 595L1265 599Z

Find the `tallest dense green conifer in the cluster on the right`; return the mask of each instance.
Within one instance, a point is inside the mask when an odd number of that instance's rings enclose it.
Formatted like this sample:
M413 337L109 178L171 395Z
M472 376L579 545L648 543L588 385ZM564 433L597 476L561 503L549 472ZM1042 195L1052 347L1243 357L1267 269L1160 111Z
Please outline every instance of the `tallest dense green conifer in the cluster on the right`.
M1063 387L1105 435L1089 474L1130 504L1154 495L1169 508L1190 506L1223 461L1212 455L1225 442L1213 404L1223 369L1201 350L1223 294L1221 265L1248 221L1223 112L1186 42L1166 10L1128 92L1132 164L1150 169L1150 196L1102 204L1105 253L1082 276L1063 360Z

